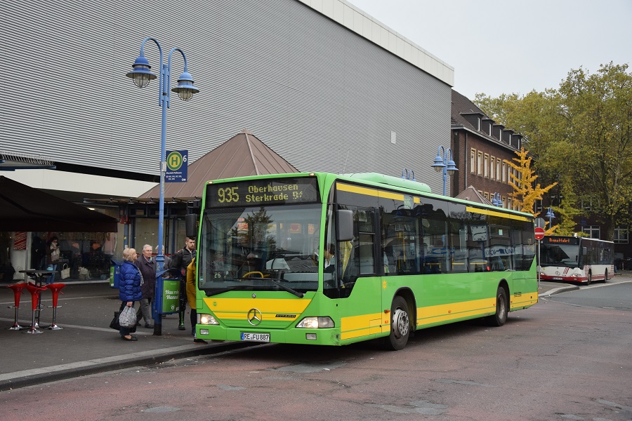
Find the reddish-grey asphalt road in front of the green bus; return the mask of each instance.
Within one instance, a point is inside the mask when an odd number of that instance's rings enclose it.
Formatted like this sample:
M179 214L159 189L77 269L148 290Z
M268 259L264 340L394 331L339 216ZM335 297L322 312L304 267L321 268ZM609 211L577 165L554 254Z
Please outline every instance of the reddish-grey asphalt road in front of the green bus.
M511 313L501 328L469 321L422 330L400 352L374 343L258 345L77 377L0 392L0 413L4 420L629 421L632 312L625 301L608 307L630 293L631 282L582 287Z

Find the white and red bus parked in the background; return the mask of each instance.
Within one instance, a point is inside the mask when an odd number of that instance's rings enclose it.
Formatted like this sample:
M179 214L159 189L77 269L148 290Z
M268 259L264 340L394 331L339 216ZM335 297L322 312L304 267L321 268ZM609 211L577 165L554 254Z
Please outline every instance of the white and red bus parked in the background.
M586 237L545 236L540 244L540 279L590 285L614 276L614 243Z

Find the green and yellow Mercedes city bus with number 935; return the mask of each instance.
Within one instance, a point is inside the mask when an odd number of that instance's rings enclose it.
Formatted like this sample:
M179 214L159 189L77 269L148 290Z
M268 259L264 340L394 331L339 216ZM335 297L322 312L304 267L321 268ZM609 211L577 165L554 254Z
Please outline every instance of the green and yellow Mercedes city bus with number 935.
M195 234L194 229L195 227ZM538 301L532 215L378 173L206 182L197 338L348 345Z

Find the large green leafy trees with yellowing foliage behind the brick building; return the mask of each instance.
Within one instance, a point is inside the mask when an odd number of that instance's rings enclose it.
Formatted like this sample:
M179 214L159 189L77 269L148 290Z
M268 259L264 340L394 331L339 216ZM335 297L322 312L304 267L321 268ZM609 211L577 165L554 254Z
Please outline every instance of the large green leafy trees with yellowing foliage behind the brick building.
M546 182L560 182L560 215L574 218L579 200L614 238L629 222L632 203L632 74L628 65L601 65L595 74L571 70L558 89L489 98L478 107L524 136L534 168ZM569 224L569 221L563 221Z

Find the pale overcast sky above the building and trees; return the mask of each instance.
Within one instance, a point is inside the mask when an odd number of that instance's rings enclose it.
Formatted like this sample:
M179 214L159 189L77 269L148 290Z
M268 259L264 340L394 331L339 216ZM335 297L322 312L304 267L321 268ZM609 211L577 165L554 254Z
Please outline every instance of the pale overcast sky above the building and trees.
M470 100L632 65L632 0L347 1L454 67L454 89Z

